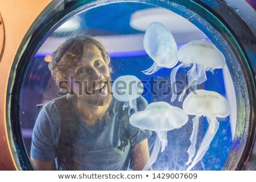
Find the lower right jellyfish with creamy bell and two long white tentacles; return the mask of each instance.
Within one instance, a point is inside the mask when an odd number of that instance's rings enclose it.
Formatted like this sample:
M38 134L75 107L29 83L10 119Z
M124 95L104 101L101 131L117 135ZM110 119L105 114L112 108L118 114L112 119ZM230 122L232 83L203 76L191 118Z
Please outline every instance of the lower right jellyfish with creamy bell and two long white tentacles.
M210 142L212 142L212 139L218 130L219 123L216 117L228 117L230 114L230 104L226 98L217 92L208 90L195 90L195 93L191 92L188 94L183 102L182 107L187 114L196 115L196 117L192 119L193 131L190 138L191 146L188 148L189 159L187 165L191 163L192 158L195 155L199 118L201 116L206 117L209 124L207 132L205 133L204 138L200 144L199 150L197 151L197 154L191 165L187 168L189 171L197 164L197 162L203 159L210 146Z

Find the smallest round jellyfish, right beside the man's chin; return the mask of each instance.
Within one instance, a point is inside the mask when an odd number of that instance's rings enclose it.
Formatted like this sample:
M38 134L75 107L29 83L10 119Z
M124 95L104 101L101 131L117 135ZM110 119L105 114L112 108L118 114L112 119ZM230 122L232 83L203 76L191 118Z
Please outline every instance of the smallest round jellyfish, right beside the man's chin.
M129 115L131 109L135 112L138 111L137 98L143 93L143 84L139 78L132 75L118 77L117 80L114 81L112 92L118 101L124 102L123 110L125 110L126 107L129 108Z

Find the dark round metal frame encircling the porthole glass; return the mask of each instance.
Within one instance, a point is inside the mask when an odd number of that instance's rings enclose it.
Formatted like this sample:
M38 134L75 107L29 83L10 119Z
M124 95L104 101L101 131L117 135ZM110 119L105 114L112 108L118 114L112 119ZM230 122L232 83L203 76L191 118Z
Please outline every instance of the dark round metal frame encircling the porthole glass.
M255 27L246 22L242 14L238 14L235 5L240 7L246 6L242 2L232 3L229 1L207 1L207 0L190 0L190 1L126 1L122 2L141 2L149 3L156 6L166 7L167 9L176 11L182 16L186 16L182 11L176 10L171 2L181 5L184 8L190 9L191 11L199 14L203 19L210 23L218 32L229 43L233 51L238 56L243 74L246 78L246 86L248 88L250 113L249 113L249 133L246 138L245 146L241 155L237 155L238 151L235 147L230 152L228 162L226 162L224 169L227 170L241 170L245 167L247 160L249 159L250 153L253 150L254 139L255 139L255 111L256 111L256 91L255 91L255 77L253 68L251 67L250 61L255 59ZM230 3L231 2L231 3ZM82 6L87 7L100 6L106 3L115 3L113 0L110 1L52 1L44 9L44 11L38 16L35 22L32 24L30 30L28 30L24 37L18 52L16 53L11 72L9 75L9 81L7 85L7 96L6 96L6 125L7 131L13 131L8 133L11 151L14 155L14 160L18 169L30 170L34 169L30 163L30 159L26 154L26 148L24 148L22 135L20 134L19 125L19 91L22 84L23 75L26 71L26 65L30 61L30 57L35 55L37 49L42 45L46 37L54 31L56 24L59 21L64 21L82 10ZM243 2L245 3L245 2ZM229 5L228 5L229 4ZM247 7L245 7L247 8ZM232 13L232 16L230 16ZM250 11L246 12L248 15ZM255 22L255 17L251 22ZM199 22L196 25L204 32L207 32L206 27L201 26ZM252 23L251 23L252 24ZM210 36L210 35L209 35ZM217 42L217 40L215 40ZM213 38L214 42L214 38ZM239 156L239 159L236 159ZM232 161L236 160L236 161Z

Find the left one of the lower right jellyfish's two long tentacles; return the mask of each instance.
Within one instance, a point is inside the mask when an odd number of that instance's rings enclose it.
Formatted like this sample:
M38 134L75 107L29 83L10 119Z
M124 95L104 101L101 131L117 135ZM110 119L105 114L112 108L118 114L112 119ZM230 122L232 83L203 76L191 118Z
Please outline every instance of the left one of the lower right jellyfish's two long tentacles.
M196 116L192 119L193 121L193 130L191 137L189 140L191 141L191 146L188 148L188 162L186 165L190 164L192 162L193 156L196 154L196 141L197 141L197 133L198 133L198 127L199 127L199 118L200 116Z

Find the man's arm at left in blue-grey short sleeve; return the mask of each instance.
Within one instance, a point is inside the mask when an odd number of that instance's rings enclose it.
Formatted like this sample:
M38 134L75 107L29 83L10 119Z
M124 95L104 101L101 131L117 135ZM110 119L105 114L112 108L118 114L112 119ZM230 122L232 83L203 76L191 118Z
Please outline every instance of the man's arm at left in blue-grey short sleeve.
M55 112L47 104L36 119L31 142L31 162L36 170L55 170L56 146L59 140L60 122L52 122ZM52 112L51 112L52 111ZM52 117L51 117L52 116ZM57 124L56 124L57 123Z

